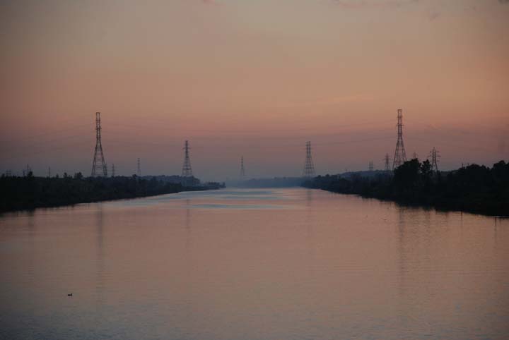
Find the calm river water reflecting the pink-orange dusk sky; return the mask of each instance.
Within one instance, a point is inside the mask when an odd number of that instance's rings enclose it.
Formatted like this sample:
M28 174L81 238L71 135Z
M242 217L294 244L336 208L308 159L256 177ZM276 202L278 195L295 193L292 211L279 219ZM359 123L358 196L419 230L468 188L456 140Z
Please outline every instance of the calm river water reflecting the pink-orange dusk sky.
M0 215L0 275L0 339L509 339L509 220L318 190Z

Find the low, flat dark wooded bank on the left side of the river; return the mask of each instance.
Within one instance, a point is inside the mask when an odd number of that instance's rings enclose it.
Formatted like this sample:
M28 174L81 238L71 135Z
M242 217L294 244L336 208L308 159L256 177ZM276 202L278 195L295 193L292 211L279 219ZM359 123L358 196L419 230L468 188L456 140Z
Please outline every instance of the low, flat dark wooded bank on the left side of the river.
M64 177L4 176L0 177L0 212L31 210L36 207L57 207L77 203L139 198L178 193L185 188L180 183L165 183L156 178L136 176L110 178L83 178L81 173Z

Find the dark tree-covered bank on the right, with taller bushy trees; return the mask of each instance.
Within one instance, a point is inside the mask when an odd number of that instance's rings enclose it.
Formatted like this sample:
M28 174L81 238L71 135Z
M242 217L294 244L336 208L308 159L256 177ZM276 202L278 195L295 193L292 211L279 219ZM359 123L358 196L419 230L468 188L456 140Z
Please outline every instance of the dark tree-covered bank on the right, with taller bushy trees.
M440 210L509 215L509 163L504 161L493 164L491 169L472 164L440 173L433 171L427 160L411 159L394 169L393 174L372 178L358 174L350 178L317 176L303 186Z

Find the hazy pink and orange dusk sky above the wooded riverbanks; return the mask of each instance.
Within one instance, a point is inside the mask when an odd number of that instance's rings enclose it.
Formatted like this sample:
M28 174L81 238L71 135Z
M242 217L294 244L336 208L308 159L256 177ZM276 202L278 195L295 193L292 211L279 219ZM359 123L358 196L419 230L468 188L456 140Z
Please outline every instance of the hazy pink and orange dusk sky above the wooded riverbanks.
M509 1L1 1L0 171L298 176L509 159Z

